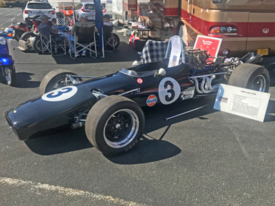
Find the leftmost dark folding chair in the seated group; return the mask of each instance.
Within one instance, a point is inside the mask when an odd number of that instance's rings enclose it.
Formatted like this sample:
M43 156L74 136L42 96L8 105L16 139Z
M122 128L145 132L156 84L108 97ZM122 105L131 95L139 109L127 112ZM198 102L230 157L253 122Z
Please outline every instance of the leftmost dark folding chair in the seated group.
M66 41L63 34L50 34L47 28L40 29L39 32L42 54L51 54L52 56L66 55ZM62 49L64 53L53 55L53 53L57 53L57 49Z

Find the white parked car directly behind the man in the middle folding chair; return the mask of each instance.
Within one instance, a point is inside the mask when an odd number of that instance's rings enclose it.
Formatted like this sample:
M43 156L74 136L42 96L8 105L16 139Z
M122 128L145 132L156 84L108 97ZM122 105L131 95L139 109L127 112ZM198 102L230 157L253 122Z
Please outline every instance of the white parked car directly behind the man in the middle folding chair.
M102 12L106 12L106 9L102 6ZM76 5L75 8L76 11L76 19L79 19L81 14L85 13L89 16L88 20L95 21L96 19L96 10L95 10L95 5L94 2L85 2L85 3L79 3Z

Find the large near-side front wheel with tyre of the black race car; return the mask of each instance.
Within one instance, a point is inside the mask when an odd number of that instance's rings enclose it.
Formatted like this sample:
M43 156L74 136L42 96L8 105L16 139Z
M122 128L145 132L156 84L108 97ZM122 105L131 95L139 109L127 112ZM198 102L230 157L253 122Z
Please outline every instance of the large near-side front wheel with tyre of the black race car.
M98 101L89 111L85 132L91 144L105 155L131 150L144 129L142 108L121 96Z

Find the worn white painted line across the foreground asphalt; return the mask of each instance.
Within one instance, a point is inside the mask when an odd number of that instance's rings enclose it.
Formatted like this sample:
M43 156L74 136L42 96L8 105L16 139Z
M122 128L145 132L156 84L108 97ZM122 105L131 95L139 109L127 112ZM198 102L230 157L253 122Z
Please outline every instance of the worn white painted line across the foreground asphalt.
M79 196L81 198L91 198L94 201L105 201L111 204L118 205L131 205L131 206L146 206L140 203L135 203L131 201L124 201L120 198L115 198L113 196L104 196L102 194L94 194L91 192L86 192L83 190L74 190L72 188L60 187L55 185L48 185L42 183L34 183L32 181L22 181L20 179L11 179L6 177L0 177L0 184L2 185L12 185L15 187L25 186L30 188L31 190L46 190L46 191L54 191L65 196Z

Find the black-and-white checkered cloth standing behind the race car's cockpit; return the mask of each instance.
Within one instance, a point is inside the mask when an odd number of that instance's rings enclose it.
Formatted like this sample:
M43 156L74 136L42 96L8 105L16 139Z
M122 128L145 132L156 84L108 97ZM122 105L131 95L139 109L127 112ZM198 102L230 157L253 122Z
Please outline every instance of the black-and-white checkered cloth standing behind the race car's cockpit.
M168 41L148 40L142 50L142 58L140 62L145 64L148 62L156 62L164 59L167 47Z

